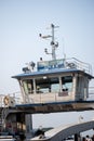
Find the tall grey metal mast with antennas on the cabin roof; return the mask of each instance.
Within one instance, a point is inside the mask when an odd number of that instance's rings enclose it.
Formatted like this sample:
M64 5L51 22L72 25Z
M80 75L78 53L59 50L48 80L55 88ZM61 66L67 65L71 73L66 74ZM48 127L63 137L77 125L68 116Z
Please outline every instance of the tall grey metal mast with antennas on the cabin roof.
M52 38L52 40L51 40L52 52L49 53L49 52L48 52L48 49L44 49L44 52L45 52L46 54L51 54L51 55L52 55L52 60L56 60L55 50L56 50L56 48L58 47L58 42L55 42L54 28L58 28L58 26L55 26L54 24L51 24L51 28L52 28L52 35L42 36L42 34L39 34L39 36L40 36L41 38L43 38L43 39Z

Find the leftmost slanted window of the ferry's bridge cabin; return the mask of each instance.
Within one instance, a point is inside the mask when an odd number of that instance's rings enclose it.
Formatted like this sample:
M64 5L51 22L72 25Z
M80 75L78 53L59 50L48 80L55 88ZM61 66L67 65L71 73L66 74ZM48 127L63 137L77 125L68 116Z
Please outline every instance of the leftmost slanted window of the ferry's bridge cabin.
M23 87L25 93L33 93L33 86L32 86L32 80L24 80L23 81Z

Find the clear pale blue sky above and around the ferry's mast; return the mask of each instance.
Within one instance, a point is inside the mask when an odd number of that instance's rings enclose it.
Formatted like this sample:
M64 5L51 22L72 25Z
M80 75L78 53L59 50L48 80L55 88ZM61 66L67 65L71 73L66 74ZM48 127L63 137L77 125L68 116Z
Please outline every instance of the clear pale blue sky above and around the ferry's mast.
M59 26L56 56L90 63L94 74L94 0L0 0L0 94L19 91L11 77L26 63L51 59L50 40L39 37L51 34L51 24Z

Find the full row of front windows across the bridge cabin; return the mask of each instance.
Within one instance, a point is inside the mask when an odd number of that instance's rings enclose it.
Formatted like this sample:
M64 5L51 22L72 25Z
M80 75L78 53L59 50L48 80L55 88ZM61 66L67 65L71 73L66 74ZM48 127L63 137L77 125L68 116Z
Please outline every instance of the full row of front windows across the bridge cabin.
M72 77L64 76L61 77L42 77L35 79L27 79L23 81L25 93L48 93L58 91L71 91L72 89ZM35 88L35 89L33 89Z

